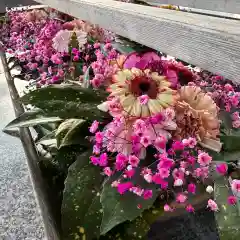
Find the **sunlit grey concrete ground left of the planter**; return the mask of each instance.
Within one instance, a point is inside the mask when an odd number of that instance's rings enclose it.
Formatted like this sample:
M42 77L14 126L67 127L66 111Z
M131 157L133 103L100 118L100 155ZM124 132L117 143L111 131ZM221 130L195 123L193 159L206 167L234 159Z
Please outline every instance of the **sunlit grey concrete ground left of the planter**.
M24 82L17 80L17 88ZM0 63L0 239L42 240L44 228L23 147L2 129L15 117Z

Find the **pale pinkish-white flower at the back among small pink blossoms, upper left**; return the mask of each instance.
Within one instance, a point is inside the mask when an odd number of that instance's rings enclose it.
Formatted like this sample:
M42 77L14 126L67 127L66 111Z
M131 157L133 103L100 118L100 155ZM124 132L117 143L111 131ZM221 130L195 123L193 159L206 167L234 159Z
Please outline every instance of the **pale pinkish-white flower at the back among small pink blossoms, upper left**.
M78 44L81 48L87 42L87 33L80 30L60 30L53 38L53 48L58 52L69 52L68 45L74 32L76 33Z

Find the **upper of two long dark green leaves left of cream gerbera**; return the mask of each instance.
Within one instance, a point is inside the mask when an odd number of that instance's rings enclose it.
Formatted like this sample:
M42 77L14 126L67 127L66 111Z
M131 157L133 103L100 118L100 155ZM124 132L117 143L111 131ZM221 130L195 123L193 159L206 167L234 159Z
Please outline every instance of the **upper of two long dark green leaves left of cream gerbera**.
M42 102L59 101L63 104L62 107L69 102L99 104L106 96L107 94L100 90L82 88L75 84L61 84L39 88L24 95L21 101L43 109Z

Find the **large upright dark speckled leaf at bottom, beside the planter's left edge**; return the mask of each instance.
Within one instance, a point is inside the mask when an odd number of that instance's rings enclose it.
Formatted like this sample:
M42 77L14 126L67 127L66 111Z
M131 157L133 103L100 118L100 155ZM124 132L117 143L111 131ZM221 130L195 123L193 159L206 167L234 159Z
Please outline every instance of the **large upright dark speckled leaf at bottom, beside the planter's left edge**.
M65 181L62 203L63 238L94 239L100 235L102 211L100 169L89 163L91 153L79 156Z

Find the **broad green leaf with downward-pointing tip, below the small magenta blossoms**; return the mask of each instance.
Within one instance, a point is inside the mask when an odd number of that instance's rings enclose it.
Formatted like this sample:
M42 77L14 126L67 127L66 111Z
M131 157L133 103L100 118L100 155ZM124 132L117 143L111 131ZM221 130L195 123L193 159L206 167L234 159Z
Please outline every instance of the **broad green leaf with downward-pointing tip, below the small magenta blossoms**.
M131 192L120 195L117 190L111 186L112 181L113 179L110 178L104 184L101 194L101 203L103 206L101 235L106 234L122 222L127 220L132 221L137 218L145 209L152 207L157 197L156 185L154 184L147 184L148 187L145 188L153 191L153 197L144 200L142 197ZM138 182L138 180L136 180L136 182Z

